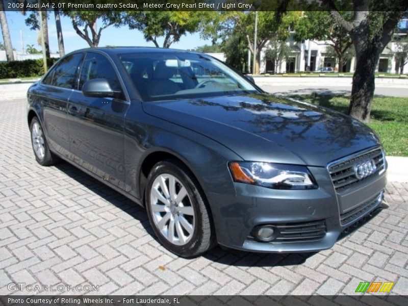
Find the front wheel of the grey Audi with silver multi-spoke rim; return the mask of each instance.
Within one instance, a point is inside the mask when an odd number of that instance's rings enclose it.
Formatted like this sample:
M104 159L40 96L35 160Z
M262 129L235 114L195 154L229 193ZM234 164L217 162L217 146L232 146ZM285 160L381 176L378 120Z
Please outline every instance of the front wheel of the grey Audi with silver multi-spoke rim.
M174 254L195 257L215 244L205 197L183 164L166 160L152 168L147 177L145 203L156 236Z

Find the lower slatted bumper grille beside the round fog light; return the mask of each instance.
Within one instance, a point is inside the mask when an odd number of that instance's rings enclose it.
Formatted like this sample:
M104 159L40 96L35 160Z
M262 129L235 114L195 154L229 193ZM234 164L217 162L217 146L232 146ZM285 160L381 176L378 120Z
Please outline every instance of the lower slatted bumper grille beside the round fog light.
M270 225L278 229L275 240L269 242L272 244L319 241L326 235L324 220ZM247 239L254 240L252 236Z

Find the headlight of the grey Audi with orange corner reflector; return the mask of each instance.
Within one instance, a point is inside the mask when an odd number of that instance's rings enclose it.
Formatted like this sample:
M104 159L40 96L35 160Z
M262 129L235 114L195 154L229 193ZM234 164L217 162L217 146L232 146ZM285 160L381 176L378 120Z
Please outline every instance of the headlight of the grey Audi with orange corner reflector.
M304 166L260 162L231 162L229 166L235 182L273 189L317 188L312 174Z

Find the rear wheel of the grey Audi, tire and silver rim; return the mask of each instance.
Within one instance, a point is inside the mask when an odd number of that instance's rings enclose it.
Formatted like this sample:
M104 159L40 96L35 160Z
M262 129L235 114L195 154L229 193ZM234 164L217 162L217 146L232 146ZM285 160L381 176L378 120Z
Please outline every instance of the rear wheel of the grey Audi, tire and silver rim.
M50 150L42 126L37 117L30 123L31 145L36 161L42 166L52 166L58 162L58 157Z

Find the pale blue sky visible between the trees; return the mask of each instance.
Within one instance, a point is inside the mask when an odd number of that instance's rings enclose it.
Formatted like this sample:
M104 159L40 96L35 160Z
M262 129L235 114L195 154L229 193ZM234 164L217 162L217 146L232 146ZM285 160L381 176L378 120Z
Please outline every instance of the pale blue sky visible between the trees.
M24 49L27 48L27 45L34 45L36 49L41 49L41 46L37 43L38 31L32 31L28 25L25 25L24 20L27 17L23 16L20 12L6 12L6 17L9 24L13 48L17 51L21 51L20 30L22 30ZM89 47L88 43L73 30L70 18L61 16L61 27L64 37L65 53ZM58 51L58 42L54 13L49 14L48 17L48 37L51 53L56 53ZM3 42L2 36L0 36L0 41ZM159 40L159 44L162 42L163 39ZM171 45L171 48L194 49L205 44L211 44L211 41L202 40L200 39L199 34L195 33L182 36L179 42ZM100 36L99 47L106 45L155 46L152 42L146 42L143 38L143 34L138 30L129 30L127 26L115 28L112 25L103 30Z

